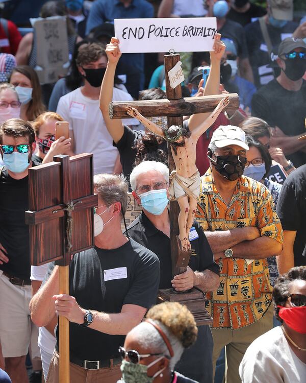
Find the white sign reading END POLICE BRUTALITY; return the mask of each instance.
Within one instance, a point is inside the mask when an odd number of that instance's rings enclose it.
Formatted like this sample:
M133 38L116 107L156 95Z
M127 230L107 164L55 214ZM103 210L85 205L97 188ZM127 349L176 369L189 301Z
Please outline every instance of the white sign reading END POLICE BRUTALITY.
M115 19L122 53L208 52L216 33L215 17Z

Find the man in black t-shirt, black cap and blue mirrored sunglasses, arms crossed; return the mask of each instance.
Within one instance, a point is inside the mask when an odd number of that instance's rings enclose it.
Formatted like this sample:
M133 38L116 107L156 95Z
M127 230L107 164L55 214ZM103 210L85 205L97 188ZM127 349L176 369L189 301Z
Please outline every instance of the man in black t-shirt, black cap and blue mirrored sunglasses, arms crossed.
M281 74L263 86L252 98L252 115L263 118L273 130L271 144L283 149L295 167L306 163L306 143L297 138L305 132L306 43L286 38L279 44Z

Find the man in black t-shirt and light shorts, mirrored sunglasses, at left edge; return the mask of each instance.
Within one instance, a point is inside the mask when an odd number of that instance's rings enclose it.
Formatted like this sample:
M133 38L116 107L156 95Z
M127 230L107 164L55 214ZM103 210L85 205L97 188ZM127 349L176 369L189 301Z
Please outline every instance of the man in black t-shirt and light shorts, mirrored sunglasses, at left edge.
M6 371L14 383L28 381L25 356L32 337L32 358L40 357L38 330L31 324L29 302L30 237L28 172L36 165L35 133L30 124L11 118L0 127L0 340ZM35 341L36 338L36 341Z

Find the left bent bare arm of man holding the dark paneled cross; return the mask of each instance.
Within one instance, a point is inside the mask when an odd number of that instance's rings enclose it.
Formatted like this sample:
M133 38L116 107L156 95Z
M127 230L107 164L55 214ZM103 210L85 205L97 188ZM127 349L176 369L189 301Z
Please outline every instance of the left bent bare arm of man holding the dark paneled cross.
M32 321L38 326L47 326L55 317L52 297L59 292L59 270L56 266L49 279L30 301L29 309Z

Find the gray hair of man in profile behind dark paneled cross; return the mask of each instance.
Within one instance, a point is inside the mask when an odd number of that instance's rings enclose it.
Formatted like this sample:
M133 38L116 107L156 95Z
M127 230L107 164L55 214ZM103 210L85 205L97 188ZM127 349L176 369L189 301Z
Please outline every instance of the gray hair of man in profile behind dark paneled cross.
M124 217L127 206L127 191L129 185L126 178L120 174L97 174L93 177L93 185L98 196L107 205L121 203L121 214Z

